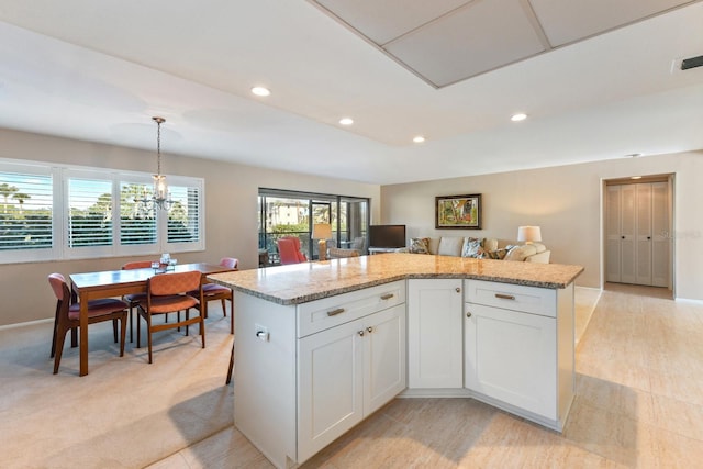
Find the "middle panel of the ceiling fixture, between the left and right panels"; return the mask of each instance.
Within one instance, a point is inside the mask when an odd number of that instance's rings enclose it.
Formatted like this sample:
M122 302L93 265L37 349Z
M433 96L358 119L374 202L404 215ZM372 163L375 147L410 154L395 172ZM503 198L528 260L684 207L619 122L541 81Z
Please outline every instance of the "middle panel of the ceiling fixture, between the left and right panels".
M545 49L518 0L472 2L384 48L437 87Z

